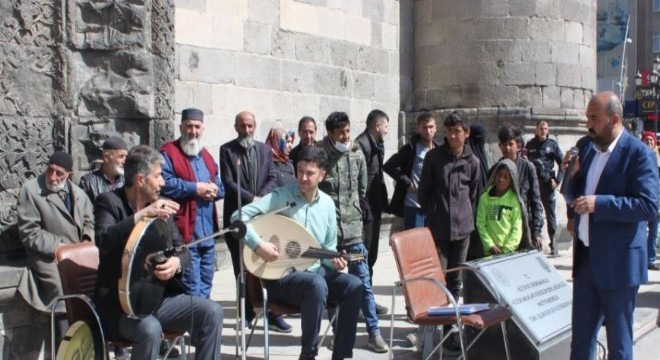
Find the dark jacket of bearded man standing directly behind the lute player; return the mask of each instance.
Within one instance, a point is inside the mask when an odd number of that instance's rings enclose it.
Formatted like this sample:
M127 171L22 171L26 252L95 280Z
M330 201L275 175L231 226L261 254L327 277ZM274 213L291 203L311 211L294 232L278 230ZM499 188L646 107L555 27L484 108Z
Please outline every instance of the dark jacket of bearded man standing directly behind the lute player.
M225 201L223 204L222 223L227 227L230 223L231 214L238 209L238 171L236 160L241 160L241 205L247 205L252 202L255 196L264 196L275 188L277 174L273 167L273 153L264 143L254 142L254 149L257 153L257 164L259 174L257 178L256 194L250 192L250 178L248 177L248 164L245 160L245 148L234 139L220 147L220 177L225 185Z

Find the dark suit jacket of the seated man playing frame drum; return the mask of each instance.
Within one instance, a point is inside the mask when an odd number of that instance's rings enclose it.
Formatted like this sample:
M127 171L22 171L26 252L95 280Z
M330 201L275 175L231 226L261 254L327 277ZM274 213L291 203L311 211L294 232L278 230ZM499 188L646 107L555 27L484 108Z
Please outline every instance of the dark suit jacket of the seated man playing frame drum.
M108 339L112 340L118 338L119 317L124 313L119 303L118 291L118 281L122 275L121 257L135 227L133 210L126 200L124 187L99 195L94 203L94 215L96 246L99 248L100 257L94 303L101 312L101 322ZM172 230L172 245L178 246L183 244L183 239L173 219L170 217L168 225ZM181 259L181 269L186 269L190 264L188 249L177 256ZM169 280L165 286L166 293L183 293L178 277Z

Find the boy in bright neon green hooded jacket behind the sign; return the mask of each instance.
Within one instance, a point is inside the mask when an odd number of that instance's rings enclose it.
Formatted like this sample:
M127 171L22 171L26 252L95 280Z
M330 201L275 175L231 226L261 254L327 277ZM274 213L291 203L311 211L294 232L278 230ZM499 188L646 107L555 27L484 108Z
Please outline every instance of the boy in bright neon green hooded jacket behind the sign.
M495 165L486 190L479 198L477 230L486 255L514 252L523 235L522 200L518 192L516 164L504 159Z

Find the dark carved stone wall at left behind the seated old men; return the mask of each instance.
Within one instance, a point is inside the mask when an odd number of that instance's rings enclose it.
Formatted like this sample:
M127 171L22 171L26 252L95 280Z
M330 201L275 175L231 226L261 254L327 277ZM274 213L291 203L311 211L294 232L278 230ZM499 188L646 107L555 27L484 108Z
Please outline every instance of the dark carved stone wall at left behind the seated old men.
M48 318L15 291L21 185L55 149L74 181L110 134L159 147L174 134L174 0L0 1L0 356L38 358Z

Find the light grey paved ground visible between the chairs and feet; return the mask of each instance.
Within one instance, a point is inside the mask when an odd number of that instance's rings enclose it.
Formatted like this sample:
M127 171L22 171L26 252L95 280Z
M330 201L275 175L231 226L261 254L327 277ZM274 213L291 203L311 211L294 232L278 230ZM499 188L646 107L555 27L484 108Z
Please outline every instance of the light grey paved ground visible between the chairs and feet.
M378 263L375 269L374 290L376 301L380 304L391 307L392 284L398 279L398 272L387 239L381 239L380 253ZM571 271L571 252L563 250L559 257L551 258L550 263L570 283ZM635 359L638 360L658 360L660 359L660 329L658 328L658 308L660 308L660 272L650 272L650 282L640 288L637 298L637 308L635 311ZM235 354L235 282L230 269L216 272L212 298L220 301L225 308L225 326L223 332L222 354L225 359L233 359ZM405 340L405 335L414 328L405 321L403 298L397 298L394 326L394 357L395 359L418 359L419 354L409 347ZM272 333L270 336L270 358L271 359L297 359L300 336L300 319L295 317L287 318L287 321L293 325L293 333L278 334ZM323 329L327 325L324 321ZM390 316L381 316L380 321L383 336L389 339ZM515 346L512 344L512 346ZM318 359L330 359L331 352L322 348ZM263 359L263 332L261 326L257 327L255 336L247 351L248 359ZM191 357L192 358L192 357ZM367 333L364 324L358 326L358 338L354 350L354 358L360 360L388 358L387 354L376 354L367 349ZM447 357L449 359L453 357Z

